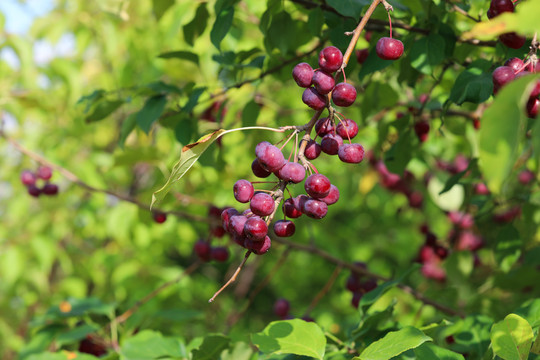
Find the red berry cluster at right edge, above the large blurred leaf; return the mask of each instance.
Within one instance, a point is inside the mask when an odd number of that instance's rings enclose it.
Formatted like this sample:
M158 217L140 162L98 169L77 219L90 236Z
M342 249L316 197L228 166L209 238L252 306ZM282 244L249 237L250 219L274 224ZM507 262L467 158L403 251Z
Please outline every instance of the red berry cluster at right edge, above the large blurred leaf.
M519 58L511 58L506 60L503 66L499 66L493 71L493 94L497 92L509 82L518 79L522 76L527 76L532 73L540 72L540 62L533 60L521 60ZM527 101L527 116L531 119L538 116L538 108L540 107L540 80L529 94Z

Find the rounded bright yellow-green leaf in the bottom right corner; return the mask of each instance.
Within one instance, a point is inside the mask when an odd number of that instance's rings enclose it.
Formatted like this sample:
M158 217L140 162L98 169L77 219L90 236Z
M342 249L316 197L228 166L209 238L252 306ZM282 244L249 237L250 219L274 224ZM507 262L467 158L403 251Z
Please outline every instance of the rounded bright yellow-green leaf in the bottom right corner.
M491 328L493 352L504 360L526 360L534 334L527 320L510 314Z

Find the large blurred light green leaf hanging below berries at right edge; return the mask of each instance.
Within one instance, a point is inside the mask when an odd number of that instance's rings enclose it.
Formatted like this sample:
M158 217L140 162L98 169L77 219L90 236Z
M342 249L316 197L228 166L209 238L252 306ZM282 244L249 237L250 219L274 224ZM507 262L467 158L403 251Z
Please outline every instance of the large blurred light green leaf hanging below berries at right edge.
M495 194L502 191L523 140L527 91L538 76L527 76L507 84L482 116L479 131L480 169L488 188Z

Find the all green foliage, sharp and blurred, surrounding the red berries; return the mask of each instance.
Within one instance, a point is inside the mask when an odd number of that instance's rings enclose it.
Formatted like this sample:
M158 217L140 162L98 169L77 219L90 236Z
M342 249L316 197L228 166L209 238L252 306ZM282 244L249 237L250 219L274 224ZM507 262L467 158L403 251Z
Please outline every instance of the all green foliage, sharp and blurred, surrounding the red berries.
M218 236L214 207L238 205L237 179L258 181L260 141L294 159L282 127L313 111L291 71L318 68L323 46L345 52L371 1L58 0L24 34L0 14L0 358L538 358L540 121L525 106L539 76L493 96L492 72L532 58L539 3L490 21L489 0L389 3L404 55L376 55L389 35L379 5L371 40L365 29L355 47L367 59L353 52L336 78L357 89L336 110L357 121L365 160L322 154L314 165L340 200L324 219L295 220L290 241L271 233L270 251L251 255L212 304L245 256ZM505 31L527 44L506 48ZM29 196L21 172L47 164L58 195ZM452 223L450 211L473 224ZM467 249L463 234L481 248ZM229 260L201 262L201 239ZM448 251L435 263L444 280L416 263L429 241ZM356 308L343 269L359 261L377 286L356 294ZM288 320L273 312L279 298Z

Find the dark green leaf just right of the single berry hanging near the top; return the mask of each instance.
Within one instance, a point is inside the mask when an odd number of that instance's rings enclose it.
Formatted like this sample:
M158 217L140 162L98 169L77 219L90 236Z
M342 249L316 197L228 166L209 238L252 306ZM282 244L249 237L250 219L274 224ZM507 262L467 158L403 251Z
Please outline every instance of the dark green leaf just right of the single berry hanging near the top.
M445 59L445 41L439 34L430 34L413 43L409 57L411 65L423 74L430 75Z

